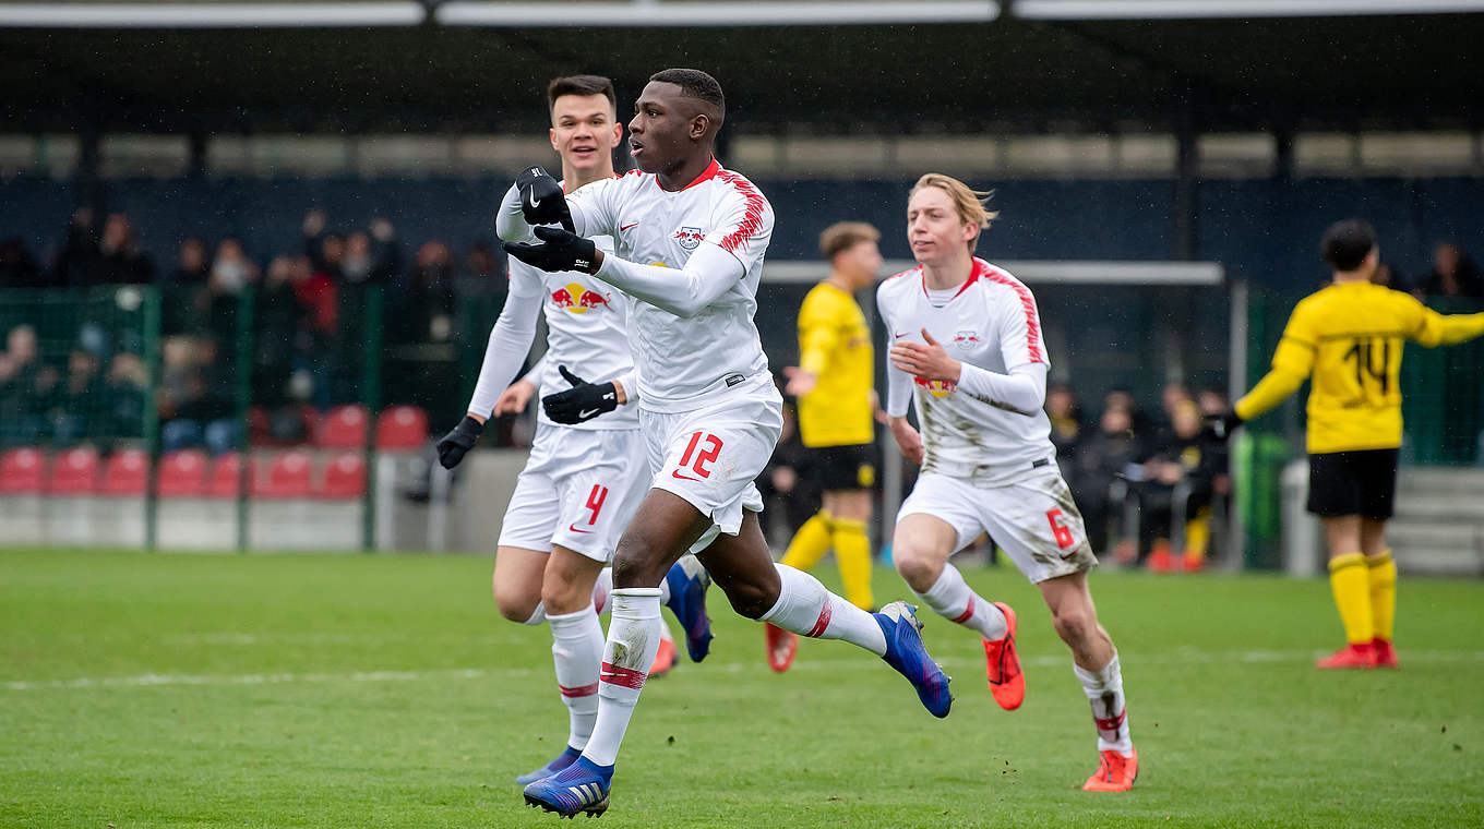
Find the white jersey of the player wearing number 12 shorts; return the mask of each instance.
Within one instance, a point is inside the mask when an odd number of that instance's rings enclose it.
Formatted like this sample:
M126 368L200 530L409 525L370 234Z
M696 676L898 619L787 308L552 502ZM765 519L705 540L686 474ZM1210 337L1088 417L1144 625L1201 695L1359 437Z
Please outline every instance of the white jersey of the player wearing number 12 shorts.
M751 181L712 159L683 190L665 190L656 175L632 171L588 184L568 194L567 205L579 236L611 236L619 258L631 262L683 268L702 245L742 262L743 276L696 316L680 317L632 301L629 346L640 406L695 411L727 389L757 386L760 377L769 377L752 316L773 236L773 208ZM519 212L515 188L502 209Z

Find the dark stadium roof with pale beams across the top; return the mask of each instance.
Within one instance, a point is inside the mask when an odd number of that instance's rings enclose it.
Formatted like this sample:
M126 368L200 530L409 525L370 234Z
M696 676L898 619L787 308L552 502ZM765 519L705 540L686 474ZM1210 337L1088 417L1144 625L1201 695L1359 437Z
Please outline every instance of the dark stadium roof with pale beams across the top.
M349 6L364 16L337 16ZM0 3L0 131L525 131L545 126L531 104L549 77L608 74L632 96L669 65L712 71L745 132L1484 126L1484 15L1447 13L1484 7L1466 0L349 6ZM959 22L702 25L736 7ZM905 7L919 16L887 16ZM1303 7L1343 16L1287 16ZM156 16L64 21L83 10ZM533 25L540 13L552 24ZM191 28L162 28L169 15ZM611 25L556 25L574 15Z

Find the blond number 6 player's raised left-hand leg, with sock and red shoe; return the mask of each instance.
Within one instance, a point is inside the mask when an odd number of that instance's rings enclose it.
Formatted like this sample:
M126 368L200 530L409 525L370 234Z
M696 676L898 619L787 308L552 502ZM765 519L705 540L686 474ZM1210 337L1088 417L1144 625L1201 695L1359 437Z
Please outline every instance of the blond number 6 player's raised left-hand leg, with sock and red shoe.
M959 531L941 518L911 513L896 522L892 562L913 593L933 612L979 635L990 694L1005 710L1025 700L1025 673L1015 648L1015 611L975 593L948 562Z

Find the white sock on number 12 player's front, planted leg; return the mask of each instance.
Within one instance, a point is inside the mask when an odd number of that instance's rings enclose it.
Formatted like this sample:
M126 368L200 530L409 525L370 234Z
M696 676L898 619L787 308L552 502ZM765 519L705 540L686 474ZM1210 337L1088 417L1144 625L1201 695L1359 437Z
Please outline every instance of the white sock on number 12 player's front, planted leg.
M597 765L613 765L629 730L634 706L659 651L659 590L617 587L610 595L613 617L598 675L598 721L582 755Z

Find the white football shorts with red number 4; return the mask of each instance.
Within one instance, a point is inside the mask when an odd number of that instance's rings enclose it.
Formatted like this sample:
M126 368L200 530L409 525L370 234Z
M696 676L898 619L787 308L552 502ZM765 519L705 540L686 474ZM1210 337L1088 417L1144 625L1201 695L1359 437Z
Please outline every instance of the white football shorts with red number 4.
M594 561L613 561L649 480L638 429L540 424L505 509L500 546L545 552L561 544Z

